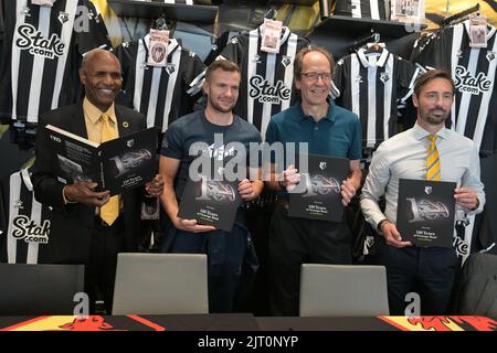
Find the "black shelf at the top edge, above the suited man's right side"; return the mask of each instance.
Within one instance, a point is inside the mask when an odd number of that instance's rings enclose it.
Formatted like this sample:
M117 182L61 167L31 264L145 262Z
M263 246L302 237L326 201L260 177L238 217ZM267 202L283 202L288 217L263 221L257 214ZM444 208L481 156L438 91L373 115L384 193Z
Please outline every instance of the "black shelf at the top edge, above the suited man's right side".
M157 19L163 14L167 20L214 23L218 15L218 7L213 6L134 0L107 0L107 3L120 17Z

